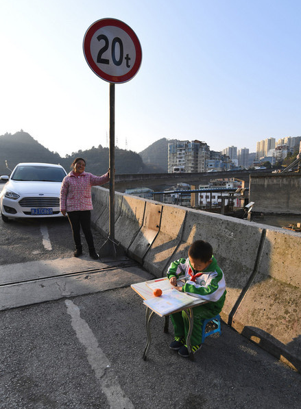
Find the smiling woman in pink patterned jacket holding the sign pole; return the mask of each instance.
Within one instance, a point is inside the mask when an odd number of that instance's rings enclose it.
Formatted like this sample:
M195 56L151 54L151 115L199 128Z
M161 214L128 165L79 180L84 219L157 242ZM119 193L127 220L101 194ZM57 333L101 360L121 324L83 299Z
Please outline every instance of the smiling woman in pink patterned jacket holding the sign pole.
M68 219L73 232L75 243L74 257L82 254L82 242L80 238L80 227L84 232L88 244L89 254L94 260L98 259L95 251L93 236L91 232L91 210L93 210L91 187L100 186L110 180L110 169L102 176L95 176L84 171L86 161L76 158L71 164L73 169L62 181L60 189L60 211Z

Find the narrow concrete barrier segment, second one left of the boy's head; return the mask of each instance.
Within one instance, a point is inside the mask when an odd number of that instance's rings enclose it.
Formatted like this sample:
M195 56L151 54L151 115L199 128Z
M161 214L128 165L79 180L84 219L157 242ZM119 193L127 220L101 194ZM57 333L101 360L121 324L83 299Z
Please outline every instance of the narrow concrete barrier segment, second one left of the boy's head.
M143 264L143 258L159 232L161 214L162 205L154 201L145 200L143 225L128 249L129 256L141 264Z

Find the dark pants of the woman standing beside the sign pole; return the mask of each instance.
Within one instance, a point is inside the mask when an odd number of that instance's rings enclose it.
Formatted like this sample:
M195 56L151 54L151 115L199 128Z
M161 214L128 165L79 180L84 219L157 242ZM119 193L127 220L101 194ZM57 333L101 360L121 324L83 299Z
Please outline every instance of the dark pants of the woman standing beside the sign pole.
M80 227L82 226L82 231L88 243L89 250L94 250L94 241L91 232L91 211L75 211L68 212L68 219L71 224L73 232L73 240L76 249L82 249L82 241L80 240Z

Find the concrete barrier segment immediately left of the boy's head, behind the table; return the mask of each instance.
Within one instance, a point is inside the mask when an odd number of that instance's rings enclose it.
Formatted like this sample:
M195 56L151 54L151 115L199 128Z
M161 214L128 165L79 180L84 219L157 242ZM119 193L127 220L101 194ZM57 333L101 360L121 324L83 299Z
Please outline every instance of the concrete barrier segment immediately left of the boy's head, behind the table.
M143 267L156 277L166 275L167 264L182 238L186 208L163 206L160 230L145 258Z

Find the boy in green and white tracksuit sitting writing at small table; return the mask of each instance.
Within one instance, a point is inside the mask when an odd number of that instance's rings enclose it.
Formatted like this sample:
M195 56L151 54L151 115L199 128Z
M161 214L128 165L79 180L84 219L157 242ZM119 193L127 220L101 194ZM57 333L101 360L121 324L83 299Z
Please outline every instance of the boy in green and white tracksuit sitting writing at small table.
M204 319L215 317L221 312L226 299L226 283L224 273L212 255L212 246L203 240L196 240L189 247L189 258L180 258L171 263L167 271L169 282L178 291L193 297L209 301L193 308L193 330L191 349L193 353L202 347L202 324ZM177 286L177 280L185 284ZM186 338L189 331L189 319L184 311L171 314L171 322L175 330L175 338L169 348L178 351L180 356L189 357Z

